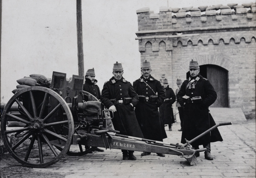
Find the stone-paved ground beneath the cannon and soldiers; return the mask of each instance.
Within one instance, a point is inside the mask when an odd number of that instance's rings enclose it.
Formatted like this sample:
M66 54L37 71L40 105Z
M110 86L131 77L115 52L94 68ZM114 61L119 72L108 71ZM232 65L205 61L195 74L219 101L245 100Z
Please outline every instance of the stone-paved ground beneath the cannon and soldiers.
M219 118L218 120L221 120ZM168 138L164 142L180 143L180 123L174 123L172 131L166 132ZM216 120L215 120L216 121ZM231 120L230 120L231 121ZM218 123L218 121L216 121ZM141 152L134 152L136 161L123 161L122 152L117 149L107 149L105 152L94 152L84 156L66 155L57 163L44 169L26 168L15 161L9 153L1 155L0 169L10 170L3 177L162 177L162 178L237 178L256 177L256 122L236 121L232 125L218 127L224 141L211 144L214 160L208 161L201 152L194 166L187 164L186 159L176 155L158 157L155 153L141 157ZM17 174L12 169L20 168Z

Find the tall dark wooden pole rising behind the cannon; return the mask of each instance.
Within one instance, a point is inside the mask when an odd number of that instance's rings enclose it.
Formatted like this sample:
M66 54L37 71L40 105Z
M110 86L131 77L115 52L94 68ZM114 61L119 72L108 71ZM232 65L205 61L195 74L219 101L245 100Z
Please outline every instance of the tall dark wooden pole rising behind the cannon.
M76 0L76 28L78 50L78 75L84 76L84 51L81 0Z

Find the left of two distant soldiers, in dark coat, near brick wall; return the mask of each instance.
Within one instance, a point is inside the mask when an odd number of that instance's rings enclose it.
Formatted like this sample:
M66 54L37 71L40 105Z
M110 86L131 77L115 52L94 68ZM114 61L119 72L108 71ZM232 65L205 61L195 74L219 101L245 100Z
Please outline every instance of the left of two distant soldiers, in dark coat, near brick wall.
M169 88L168 80L166 78L163 80L163 89L166 92L166 99L163 101L163 104L159 107L159 113L163 121L163 124L168 124L169 131L172 131L172 123L175 123L172 104L175 103L176 95L172 88Z

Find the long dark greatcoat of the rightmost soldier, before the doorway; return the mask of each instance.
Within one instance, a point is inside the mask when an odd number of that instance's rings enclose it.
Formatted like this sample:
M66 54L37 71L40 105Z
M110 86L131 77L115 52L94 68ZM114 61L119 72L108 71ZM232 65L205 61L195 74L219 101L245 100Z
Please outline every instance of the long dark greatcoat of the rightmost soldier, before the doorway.
M193 101L191 103L186 103L187 100L182 98L184 95L189 96L190 98L201 96L202 100L199 102ZM177 101L181 106L184 106L184 123L181 143L185 144L185 138L187 140L192 140L215 125L212 116L209 114L209 106L211 106L216 99L217 93L212 84L201 75L198 75L198 77L195 78L190 76L189 79L182 83L180 91L177 94ZM192 145L204 145L215 141L223 141L217 128L193 142Z

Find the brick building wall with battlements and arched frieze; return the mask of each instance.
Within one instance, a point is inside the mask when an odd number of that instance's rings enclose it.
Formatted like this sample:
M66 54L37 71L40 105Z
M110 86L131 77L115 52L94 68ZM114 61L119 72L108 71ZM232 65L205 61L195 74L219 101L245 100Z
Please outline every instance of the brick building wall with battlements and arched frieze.
M231 108L240 107L255 118L256 8L154 14L139 9L136 33L141 62L151 62L152 75L165 78L174 90L176 80L186 79L191 59L199 65L214 64L228 70ZM181 34L182 33L182 34Z

